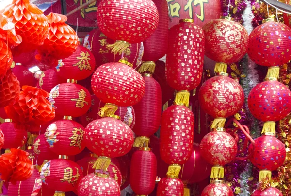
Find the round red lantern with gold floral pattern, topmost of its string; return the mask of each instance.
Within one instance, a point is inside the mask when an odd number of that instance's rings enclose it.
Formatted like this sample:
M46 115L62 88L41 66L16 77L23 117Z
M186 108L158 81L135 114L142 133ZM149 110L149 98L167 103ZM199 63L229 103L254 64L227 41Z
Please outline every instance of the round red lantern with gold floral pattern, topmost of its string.
M245 28L230 19L215 19L203 26L205 55L218 63L239 61L247 52L249 36Z

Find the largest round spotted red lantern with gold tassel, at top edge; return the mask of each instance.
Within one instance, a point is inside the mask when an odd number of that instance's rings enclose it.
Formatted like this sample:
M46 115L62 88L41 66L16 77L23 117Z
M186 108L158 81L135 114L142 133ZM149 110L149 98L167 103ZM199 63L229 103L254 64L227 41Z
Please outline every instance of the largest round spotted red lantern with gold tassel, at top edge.
M121 53L128 48L129 43L145 41L154 33L159 23L159 13L151 0L142 3L134 0L101 0L97 23L105 36L116 41L107 48L113 53Z

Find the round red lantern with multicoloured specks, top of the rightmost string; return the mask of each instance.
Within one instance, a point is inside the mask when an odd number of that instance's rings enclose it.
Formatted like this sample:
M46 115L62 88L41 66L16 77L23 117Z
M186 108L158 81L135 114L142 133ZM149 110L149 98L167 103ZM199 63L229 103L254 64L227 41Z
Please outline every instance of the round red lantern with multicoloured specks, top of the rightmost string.
M259 65L279 66L291 60L290 47L291 29L271 20L252 31L247 53Z

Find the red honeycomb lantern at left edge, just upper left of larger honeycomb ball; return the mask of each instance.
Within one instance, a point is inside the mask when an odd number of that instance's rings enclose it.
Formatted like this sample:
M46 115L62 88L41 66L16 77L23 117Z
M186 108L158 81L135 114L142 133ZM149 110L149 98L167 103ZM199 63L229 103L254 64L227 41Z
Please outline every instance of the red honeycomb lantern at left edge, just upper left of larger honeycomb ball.
M0 107L5 107L18 97L20 86L19 81L11 70L5 73L0 82Z

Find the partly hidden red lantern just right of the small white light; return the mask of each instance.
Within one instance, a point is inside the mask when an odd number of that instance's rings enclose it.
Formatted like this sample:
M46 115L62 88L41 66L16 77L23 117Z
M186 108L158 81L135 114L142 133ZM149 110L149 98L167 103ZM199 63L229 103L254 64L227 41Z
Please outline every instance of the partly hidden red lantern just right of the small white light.
M65 83L66 79L58 76L54 69L44 71L38 80L37 88L50 92L55 86Z

